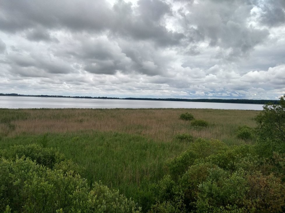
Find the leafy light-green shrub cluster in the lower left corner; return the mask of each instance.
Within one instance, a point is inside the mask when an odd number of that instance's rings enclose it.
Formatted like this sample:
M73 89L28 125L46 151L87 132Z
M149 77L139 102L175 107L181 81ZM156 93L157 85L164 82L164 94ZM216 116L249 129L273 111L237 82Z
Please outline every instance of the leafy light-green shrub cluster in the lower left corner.
M0 212L140 212L118 191L96 182L89 187L76 169L52 148L1 150Z

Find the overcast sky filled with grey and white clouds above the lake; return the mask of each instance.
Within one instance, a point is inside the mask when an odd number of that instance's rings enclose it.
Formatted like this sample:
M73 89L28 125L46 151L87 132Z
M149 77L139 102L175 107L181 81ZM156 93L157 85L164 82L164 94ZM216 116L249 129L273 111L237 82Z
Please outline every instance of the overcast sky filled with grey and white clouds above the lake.
M1 0L0 93L278 99L284 0Z

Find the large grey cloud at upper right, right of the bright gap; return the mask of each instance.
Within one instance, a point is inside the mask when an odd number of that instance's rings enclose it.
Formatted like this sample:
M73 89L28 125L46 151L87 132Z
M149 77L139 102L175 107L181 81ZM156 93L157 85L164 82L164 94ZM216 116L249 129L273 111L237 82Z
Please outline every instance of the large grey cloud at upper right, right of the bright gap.
M252 50L269 35L268 30L247 26L247 18L254 5L243 1L200 1L187 7L189 26L196 25L200 39L210 46L232 48L228 58L239 57ZM189 37L193 37L191 34Z

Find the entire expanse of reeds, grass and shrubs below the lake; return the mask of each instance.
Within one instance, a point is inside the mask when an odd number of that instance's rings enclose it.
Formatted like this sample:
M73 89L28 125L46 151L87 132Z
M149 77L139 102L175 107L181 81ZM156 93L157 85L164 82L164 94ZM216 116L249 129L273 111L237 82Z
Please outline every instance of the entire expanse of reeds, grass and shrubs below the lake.
M183 111L0 109L0 212L285 212L284 96Z

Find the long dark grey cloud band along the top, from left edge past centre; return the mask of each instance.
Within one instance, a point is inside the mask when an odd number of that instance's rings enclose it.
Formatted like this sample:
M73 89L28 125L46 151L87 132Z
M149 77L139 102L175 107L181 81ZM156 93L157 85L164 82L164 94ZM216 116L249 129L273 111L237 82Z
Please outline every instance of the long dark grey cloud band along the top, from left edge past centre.
M45 31L38 28L71 31L103 32L154 40L158 45L179 44L183 34L171 32L163 23L165 15L171 15L170 5L159 0L140 0L138 7L120 0L113 8L106 1L13 1L4 0L1 5L0 29L15 33L27 28L27 38L50 40ZM135 14L135 11L139 11Z

